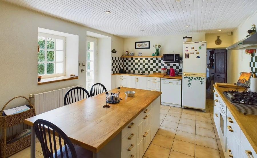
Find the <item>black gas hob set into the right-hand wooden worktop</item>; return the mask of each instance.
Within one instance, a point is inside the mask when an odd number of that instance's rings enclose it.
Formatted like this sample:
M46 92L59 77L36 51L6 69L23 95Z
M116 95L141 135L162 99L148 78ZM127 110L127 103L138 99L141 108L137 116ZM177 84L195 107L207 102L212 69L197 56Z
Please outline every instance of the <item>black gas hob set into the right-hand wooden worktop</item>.
M228 101L233 104L238 112L257 115L257 93L256 92L238 92L224 91L223 94Z

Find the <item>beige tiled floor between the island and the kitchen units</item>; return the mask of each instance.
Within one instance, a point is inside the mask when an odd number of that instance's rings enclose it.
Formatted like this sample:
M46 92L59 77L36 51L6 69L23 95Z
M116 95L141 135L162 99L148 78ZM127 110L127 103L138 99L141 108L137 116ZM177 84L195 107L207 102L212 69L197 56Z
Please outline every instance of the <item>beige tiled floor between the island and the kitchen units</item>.
M30 157L30 147L10 158ZM36 157L43 158L40 143ZM160 105L160 128L144 158L224 158L213 120L213 100L206 99L206 113Z

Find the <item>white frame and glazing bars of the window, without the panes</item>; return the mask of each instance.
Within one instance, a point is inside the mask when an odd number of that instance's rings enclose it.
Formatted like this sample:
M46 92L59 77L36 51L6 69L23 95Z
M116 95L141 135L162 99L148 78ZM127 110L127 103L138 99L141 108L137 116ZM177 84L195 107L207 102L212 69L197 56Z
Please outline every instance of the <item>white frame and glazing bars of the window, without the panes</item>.
M55 48L54 49L47 49L47 47L45 47L45 49L39 49L39 50L45 50L45 61L44 62L37 62L38 64L39 63L45 63L45 74L42 74L42 78L51 78L51 77L58 77L58 76L65 76L65 43L66 43L66 37L64 36L58 36L58 35L54 35L54 34L46 34L46 33L42 33L42 32L38 32L38 37L44 37L45 38L45 45L46 45L46 42L47 42L47 38L54 38L55 41L56 39L60 39L60 40L63 40L63 50L57 50L56 49L56 45L55 45ZM55 60L54 62L49 62L49 63L59 63L59 62L56 62L56 51L63 51L63 72L62 73L55 73L55 70L54 70L54 73L53 74L46 74L46 64L48 63L46 61L46 53L47 53L47 50L50 50L50 51L54 51L55 52ZM56 68L56 67L55 67Z

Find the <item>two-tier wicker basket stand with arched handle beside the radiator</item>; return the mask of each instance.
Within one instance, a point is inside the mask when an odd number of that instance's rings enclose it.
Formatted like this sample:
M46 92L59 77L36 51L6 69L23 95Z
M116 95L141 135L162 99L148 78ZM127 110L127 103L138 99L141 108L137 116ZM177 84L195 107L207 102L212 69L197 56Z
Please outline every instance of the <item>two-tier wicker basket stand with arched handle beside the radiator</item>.
M29 107L30 109L27 111L23 111L21 113L13 114L13 115L7 115L7 116L2 116L3 110L7 106L8 103L10 103L13 99L15 98L25 98L29 102ZM30 138L31 135L29 134L28 136L25 136L16 142L6 144L6 140L11 140L14 136L8 137L7 138L7 128L17 125L19 123L22 123L23 120L33 117L36 115L36 111L34 108L34 105L31 104L28 98L23 97L23 96L18 96L14 97L13 99L9 100L3 109L0 111L0 128L2 132L1 136L1 157L8 157L30 145Z

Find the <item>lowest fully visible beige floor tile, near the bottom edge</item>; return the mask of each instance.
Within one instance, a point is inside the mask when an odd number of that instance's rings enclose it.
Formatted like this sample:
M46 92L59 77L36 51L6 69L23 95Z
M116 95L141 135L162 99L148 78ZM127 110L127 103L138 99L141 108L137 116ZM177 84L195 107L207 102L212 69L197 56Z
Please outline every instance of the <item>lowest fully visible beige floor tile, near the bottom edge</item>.
M194 156L194 144L174 139L171 150Z

